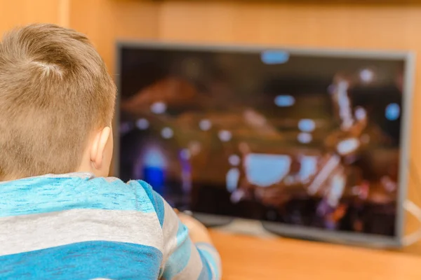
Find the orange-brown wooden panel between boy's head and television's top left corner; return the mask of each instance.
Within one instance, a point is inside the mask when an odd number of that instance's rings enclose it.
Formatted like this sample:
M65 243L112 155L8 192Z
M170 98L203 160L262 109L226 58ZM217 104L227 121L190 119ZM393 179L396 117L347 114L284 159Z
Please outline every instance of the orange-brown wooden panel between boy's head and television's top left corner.
M159 35L159 8L152 1L72 0L69 25L88 34L109 71L114 73L116 40L156 40Z

